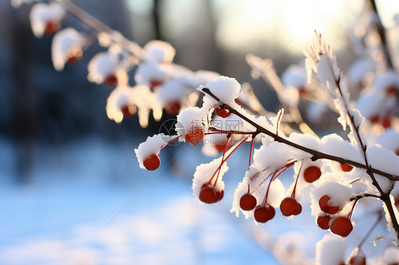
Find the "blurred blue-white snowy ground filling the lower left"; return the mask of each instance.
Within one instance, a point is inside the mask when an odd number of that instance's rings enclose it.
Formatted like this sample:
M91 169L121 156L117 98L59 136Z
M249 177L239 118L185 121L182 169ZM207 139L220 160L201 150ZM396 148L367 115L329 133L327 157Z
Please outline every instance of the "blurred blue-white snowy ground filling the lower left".
M16 147L1 146L0 264L278 264L229 201L200 205L191 176L139 169L137 143L37 146L22 186Z

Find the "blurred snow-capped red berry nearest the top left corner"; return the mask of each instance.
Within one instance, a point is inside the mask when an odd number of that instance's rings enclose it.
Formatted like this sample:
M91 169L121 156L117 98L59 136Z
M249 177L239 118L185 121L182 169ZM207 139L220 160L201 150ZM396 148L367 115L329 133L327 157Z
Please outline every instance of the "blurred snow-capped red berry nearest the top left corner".
M53 35L60 29L64 16L65 9L58 3L33 5L29 14L33 34L36 38L41 38L43 34Z

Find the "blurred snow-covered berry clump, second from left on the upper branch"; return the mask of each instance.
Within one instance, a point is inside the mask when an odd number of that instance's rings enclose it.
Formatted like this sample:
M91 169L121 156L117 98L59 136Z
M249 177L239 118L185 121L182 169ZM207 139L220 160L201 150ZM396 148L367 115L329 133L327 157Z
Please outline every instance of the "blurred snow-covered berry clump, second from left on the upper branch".
M74 28L65 28L54 35L51 57L57 71L64 69L66 62L76 62L82 57L86 38Z

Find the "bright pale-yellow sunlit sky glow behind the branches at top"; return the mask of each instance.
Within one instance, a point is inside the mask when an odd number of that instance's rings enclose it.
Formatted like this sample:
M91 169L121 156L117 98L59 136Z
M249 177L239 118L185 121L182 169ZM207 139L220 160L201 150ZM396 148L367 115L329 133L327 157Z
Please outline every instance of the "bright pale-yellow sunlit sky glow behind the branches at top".
M240 50L256 48L259 43L283 47L290 40L289 52L302 53L313 31L322 32L336 48L346 45L345 38L364 1L214 1L220 13L217 41L224 47ZM251 4L249 4L251 3Z

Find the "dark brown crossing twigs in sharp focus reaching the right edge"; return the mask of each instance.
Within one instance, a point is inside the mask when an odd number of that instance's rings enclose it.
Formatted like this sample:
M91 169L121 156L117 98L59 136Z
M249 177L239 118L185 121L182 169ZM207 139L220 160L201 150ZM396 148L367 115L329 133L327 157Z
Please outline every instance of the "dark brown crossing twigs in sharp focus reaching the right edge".
M336 80L336 84L337 87L339 87L339 79ZM237 115L239 118L242 118L243 120L245 120L247 123L250 123L251 125L253 125L256 128L256 133L264 133L270 137L273 137L273 139L276 142L281 142L285 145L290 145L291 147L297 148L298 150L302 150L304 152L307 152L309 154L312 154L312 160L316 161L317 159L329 159L332 161L336 161L339 162L341 164L350 164L351 166L354 167L358 167L361 169L366 169L367 174L371 177L372 181L373 181L373 185L376 186L376 188L378 189L378 191L380 192L380 197L381 200L386 204L386 207L388 208L388 213L390 215L390 218L392 220L392 225L393 228L395 229L396 232L396 236L399 238L399 224L398 224L398 220L396 220L395 217L395 213L393 211L393 206L392 203L390 201L390 196L389 193L384 193L381 186L378 184L378 182L376 181L376 178L374 176L375 174L379 174L381 176L386 176L388 179L391 179L393 181L397 181L399 180L399 176L395 176L392 174L388 174L384 171L378 170L378 169L373 169L371 167L371 165L368 162L367 156L366 156L366 145L363 144L363 141L361 140L361 137L359 135L359 125L354 125L354 117L353 115L351 115L351 113L349 112L349 110L346 108L347 114L349 115L349 118L351 120L352 123L352 127L354 128L354 133L356 133L357 139L359 140L359 145L361 146L363 152L364 152L364 159L365 159L365 163L366 164L361 164L358 162L354 162L352 160L349 159L344 159L342 157L336 157L333 156L331 154L326 154L323 152L319 152L317 150L312 150L308 147L302 146L302 145L298 145L295 142L291 142L290 140L287 140L283 137L278 136L277 134L271 132L270 130L267 130L266 128L263 128L261 125L258 125L258 123L255 123L253 120L251 120L250 118L246 117L246 115L243 115L241 113L239 113L239 111L236 111L236 109L231 108L229 105L227 105L224 102L221 102L219 100L219 98L217 96L215 96L209 89L207 89L206 87L202 89L202 91L204 92L204 94L207 94L209 96L211 96L212 98L214 98L214 100L219 101L219 105L222 108L226 108L228 109L231 113ZM341 90L339 90L341 93Z

